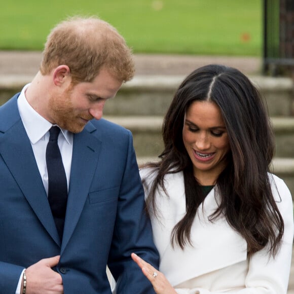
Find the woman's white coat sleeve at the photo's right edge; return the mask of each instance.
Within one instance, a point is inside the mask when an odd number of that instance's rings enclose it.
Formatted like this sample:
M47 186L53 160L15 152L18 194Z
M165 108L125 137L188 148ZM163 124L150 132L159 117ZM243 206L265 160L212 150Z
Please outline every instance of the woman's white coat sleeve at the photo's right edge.
M289 189L283 180L274 177L274 198L284 220L281 248L275 258L269 256L268 248L254 253L249 261L245 288L241 290L209 291L203 288L176 289L178 294L286 294L289 280L293 246L293 203ZM273 185L274 186L274 185ZM280 200L281 199L281 200Z

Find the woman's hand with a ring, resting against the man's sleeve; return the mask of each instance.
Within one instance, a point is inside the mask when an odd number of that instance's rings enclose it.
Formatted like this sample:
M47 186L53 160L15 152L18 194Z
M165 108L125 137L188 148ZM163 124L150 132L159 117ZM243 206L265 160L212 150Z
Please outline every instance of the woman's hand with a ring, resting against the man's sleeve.
M176 294L175 289L166 279L164 274L156 270L152 265L143 261L135 253L131 254L133 261L140 267L143 274L152 283L153 288L157 294Z

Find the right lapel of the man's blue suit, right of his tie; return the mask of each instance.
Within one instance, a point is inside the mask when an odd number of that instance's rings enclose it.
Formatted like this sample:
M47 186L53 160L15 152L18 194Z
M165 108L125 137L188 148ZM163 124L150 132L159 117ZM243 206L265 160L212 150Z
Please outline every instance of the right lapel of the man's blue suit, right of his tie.
M96 128L93 124L88 123L81 133L75 134L73 137L70 182L61 253L77 226L97 166L101 141L93 136L92 132L95 131Z

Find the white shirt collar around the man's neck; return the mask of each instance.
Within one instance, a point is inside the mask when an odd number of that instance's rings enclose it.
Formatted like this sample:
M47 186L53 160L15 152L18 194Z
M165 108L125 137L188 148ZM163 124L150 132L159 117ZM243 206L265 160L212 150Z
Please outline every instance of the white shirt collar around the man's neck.
M17 105L22 123L29 137L29 140L32 144L35 144L40 139L45 137L45 134L50 130L53 124L43 118L39 113L37 113L27 102L25 97L25 90L29 87L29 85L30 84L27 84L23 87L17 99ZM73 134L64 129L61 129L61 132L66 142L71 145L73 142Z

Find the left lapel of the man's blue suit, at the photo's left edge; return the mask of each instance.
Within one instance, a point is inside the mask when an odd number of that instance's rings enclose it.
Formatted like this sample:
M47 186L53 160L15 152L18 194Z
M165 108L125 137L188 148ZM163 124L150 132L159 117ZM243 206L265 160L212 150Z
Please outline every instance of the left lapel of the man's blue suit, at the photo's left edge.
M5 114L7 119L5 123L0 123L4 127L0 130L0 154L34 213L54 241L60 245L43 181L17 111L16 101L17 97L1 109L0 115ZM5 119L4 116L2 119ZM12 125L9 126L9 122Z

